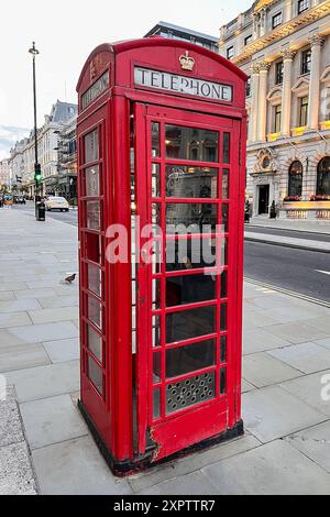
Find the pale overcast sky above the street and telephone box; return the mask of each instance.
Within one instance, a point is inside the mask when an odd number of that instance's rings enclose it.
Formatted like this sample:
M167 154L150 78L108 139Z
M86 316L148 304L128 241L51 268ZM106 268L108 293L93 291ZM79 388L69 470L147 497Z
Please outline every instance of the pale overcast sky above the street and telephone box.
M252 0L2 0L0 160L33 125L32 41L40 51L37 122L57 99L76 102L76 84L100 43L142 37L158 21L219 36L219 28Z

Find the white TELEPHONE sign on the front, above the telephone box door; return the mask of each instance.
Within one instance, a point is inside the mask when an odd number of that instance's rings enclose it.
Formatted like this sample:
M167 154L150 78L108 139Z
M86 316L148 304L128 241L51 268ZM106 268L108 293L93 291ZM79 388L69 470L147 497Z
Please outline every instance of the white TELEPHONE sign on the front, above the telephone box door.
M205 99L232 101L232 86L210 82L186 76L168 74L167 72L151 70L148 68L134 68L135 86L157 88L175 94L186 94Z

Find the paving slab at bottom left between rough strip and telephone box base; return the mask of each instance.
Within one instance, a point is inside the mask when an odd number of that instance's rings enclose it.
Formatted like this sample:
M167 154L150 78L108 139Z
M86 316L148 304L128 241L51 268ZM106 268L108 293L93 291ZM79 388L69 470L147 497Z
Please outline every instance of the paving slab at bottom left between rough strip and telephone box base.
M130 495L127 480L116 479L87 436L32 451L43 495Z

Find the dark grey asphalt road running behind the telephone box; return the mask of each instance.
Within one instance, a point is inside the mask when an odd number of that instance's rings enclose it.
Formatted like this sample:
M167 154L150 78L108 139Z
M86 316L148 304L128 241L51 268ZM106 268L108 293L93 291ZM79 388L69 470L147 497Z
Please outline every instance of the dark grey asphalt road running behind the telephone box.
M33 205L13 207L14 210L33 211ZM77 210L46 212L54 218L77 227ZM250 231L276 235L330 242L330 235L289 230L248 227ZM330 255L314 251L283 248L258 242L245 242L244 274L246 278L264 282L314 298L330 301Z

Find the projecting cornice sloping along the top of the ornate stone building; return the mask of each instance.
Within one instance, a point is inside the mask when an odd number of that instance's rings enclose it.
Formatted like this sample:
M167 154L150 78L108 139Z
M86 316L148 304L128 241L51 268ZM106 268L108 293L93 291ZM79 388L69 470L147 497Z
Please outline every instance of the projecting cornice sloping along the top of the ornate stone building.
M294 18L289 22L284 23L268 34L258 37L257 40L250 43L245 46L244 51L235 56L231 62L240 66L246 62L253 54L256 52L266 48L268 45L276 41L280 41L290 34L294 34L298 29L301 29L306 25L309 25L316 20L320 20L327 14L330 14L330 0L324 0L323 2L315 6L314 8L305 11L299 16Z

